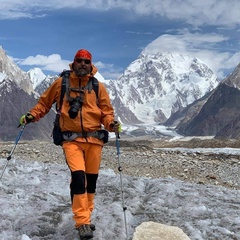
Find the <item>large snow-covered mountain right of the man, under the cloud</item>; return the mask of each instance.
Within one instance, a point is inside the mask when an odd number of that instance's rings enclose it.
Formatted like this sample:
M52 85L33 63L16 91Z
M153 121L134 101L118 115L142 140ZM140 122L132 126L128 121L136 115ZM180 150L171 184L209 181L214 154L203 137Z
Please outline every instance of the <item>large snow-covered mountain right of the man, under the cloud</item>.
M138 121L152 123L165 122L217 85L216 75L197 58L144 50L108 87L116 104L127 107ZM118 116L124 122L123 114Z

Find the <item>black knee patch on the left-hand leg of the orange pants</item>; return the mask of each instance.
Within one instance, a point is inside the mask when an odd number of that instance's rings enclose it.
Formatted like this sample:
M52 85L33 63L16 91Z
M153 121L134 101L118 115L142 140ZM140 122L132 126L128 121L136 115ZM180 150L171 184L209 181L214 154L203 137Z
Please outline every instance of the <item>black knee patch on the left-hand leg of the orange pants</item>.
M86 181L84 171L72 172L71 194L83 194L86 192Z

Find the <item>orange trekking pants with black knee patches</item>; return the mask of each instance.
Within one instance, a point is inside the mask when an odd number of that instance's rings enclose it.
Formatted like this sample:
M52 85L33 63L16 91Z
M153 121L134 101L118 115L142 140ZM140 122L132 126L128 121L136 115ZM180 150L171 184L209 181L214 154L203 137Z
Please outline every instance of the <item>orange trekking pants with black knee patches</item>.
M71 199L75 227L91 223L102 146L89 142L65 142L63 150L71 171Z

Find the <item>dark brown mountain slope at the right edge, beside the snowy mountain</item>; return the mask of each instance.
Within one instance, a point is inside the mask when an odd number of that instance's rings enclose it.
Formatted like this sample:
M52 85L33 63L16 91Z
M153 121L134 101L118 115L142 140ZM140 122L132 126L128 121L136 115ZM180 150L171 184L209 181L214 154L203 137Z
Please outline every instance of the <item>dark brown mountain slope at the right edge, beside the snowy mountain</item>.
M195 105L194 103L193 105ZM240 137L240 64L211 93L199 112L177 126L177 132L190 136Z

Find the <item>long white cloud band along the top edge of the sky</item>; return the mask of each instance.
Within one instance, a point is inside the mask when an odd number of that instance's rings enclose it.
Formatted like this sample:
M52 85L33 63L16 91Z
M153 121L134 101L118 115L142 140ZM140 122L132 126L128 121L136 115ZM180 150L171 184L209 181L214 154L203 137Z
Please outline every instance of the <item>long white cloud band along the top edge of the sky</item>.
M43 17L64 8L131 11L140 16L160 16L190 25L235 26L240 23L238 0L1 0L0 19Z

